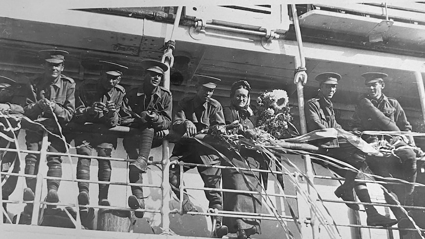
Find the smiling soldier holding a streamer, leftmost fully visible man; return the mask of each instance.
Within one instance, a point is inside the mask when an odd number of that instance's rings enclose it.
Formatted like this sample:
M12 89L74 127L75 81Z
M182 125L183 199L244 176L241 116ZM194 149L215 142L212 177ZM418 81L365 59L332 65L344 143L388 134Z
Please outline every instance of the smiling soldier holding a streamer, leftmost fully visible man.
M44 59L44 74L32 80L26 96L24 107L25 115L32 120L39 119L47 129L59 134L58 125L69 123L75 112L75 82L72 78L62 74L65 68L65 55L69 54L62 50L42 50L39 52ZM27 130L25 137L28 150L40 150L42 141L41 132L30 132ZM61 138L48 137L50 145L49 152L66 152L65 143ZM29 153L25 157L25 173L35 175L38 172L40 161L39 154ZM47 176L62 177L62 159L57 155L47 156ZM34 200L35 178L26 178L27 186L24 190L24 200ZM60 180L47 179L46 201L59 202L58 188Z

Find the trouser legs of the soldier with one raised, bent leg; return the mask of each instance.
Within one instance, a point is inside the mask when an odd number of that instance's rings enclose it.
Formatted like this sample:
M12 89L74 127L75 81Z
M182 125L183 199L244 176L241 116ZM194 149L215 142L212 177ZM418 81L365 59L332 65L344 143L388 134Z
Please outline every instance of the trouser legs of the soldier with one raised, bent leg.
M145 125L146 126L146 125ZM140 137L125 137L123 139L123 146L128 154L129 159L137 160L139 156L144 159L149 157L150 149L152 147L152 140L154 135L153 128L142 128ZM133 167L129 168L129 181L131 183L143 183L143 171L136 170ZM142 186L131 186L131 192L136 198L143 199Z

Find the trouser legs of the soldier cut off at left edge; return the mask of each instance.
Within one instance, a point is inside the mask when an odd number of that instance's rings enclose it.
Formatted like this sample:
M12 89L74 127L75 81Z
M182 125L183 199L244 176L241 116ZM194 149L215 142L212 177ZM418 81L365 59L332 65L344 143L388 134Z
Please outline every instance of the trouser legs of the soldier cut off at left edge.
M10 131L2 131L3 134L6 134L9 137L14 137ZM16 137L18 137L19 131L14 132ZM16 145L14 142L10 142L4 138L0 138L0 147L1 148L13 148L16 149ZM21 162L18 158L17 152L0 152L0 167L2 172L10 171L14 173L18 173L20 171ZM13 167L13 168L12 168ZM1 181L6 178L5 183L2 186L2 195L4 200L8 200L10 194L13 193L16 189L16 184L18 182L18 176L12 175L1 175Z

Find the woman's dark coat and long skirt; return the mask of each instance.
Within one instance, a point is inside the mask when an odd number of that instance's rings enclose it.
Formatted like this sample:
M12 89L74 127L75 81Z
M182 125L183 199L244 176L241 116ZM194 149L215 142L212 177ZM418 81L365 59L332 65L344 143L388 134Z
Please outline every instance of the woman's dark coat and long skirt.
M224 107L223 112L226 124L239 120L243 129L255 128L255 119L247 112L243 110L237 111L235 107L232 106ZM244 134L244 132L240 133ZM240 149L240 154L244 160L241 160L241 158L237 156L226 155L228 156L227 158L231 159L232 164L224 162L223 165L239 168L260 169L260 166L264 163L263 156L255 150L242 147ZM235 169L222 170L223 188L261 192L261 185L258 181L260 173L244 171L244 174L245 176ZM251 184L248 184L246 179L253 184L254 188L252 188ZM223 210L261 213L261 196L259 194L248 195L245 193L223 192ZM230 233L236 233L238 230L249 229L252 227L255 227L257 233L261 233L259 219L224 217L223 225L226 225L229 228Z

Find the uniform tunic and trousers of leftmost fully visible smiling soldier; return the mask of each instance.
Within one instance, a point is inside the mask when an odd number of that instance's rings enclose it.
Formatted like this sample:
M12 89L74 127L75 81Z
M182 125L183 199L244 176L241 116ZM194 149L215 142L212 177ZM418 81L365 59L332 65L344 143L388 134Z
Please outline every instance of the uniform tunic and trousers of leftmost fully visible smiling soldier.
M25 115L30 119L35 120L40 117L48 118L43 121L42 124L48 129L54 131L58 130L56 122L52 113L43 112L38 106L37 102L42 99L48 99L51 102L56 103L56 107L53 113L56 115L60 124L66 124L71 121L75 112L75 82L72 78L65 75L60 75L55 82L47 81L43 76L36 78L30 82L28 86L29 90L26 94L26 105L24 107ZM58 133L58 132L56 132ZM40 150L42 134L37 132L26 135L26 144L28 150ZM52 137L49 135L50 145L48 147L49 152L66 152L65 144L62 139ZM26 167L25 173L36 174L38 169L35 167L35 163L39 160L36 154L28 154L25 157ZM47 176L62 176L62 159L60 156L48 155ZM27 186L35 190L35 180L33 178L27 178ZM58 189L58 180L47 180L48 189ZM34 191L35 192L35 191Z

